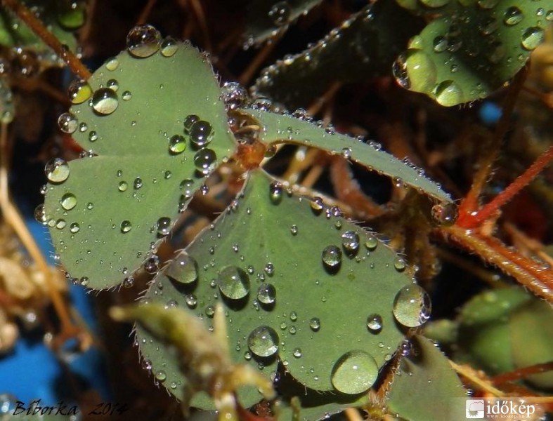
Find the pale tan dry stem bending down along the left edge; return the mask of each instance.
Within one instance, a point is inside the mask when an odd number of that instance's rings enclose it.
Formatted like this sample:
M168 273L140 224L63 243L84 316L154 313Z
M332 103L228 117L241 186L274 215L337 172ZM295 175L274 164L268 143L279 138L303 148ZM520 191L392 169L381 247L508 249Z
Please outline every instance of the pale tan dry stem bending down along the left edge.
M31 233L25 225L25 221L21 218L21 215L17 208L13 205L8 194L8 124L1 123L0 126L0 208L2 210L2 215L4 215L4 220L10 225L19 237L23 246L27 248L27 251L31 255L31 258L36 263L39 270L44 274L44 279L46 281L46 286L48 287L48 293L50 299L53 303L54 309L60 318L62 325L62 336L74 335L79 332L79 328L74 326L67 307L63 302L63 298L56 287L51 274L51 269L44 260L44 257L41 253L41 250L37 246L37 243L34 241Z

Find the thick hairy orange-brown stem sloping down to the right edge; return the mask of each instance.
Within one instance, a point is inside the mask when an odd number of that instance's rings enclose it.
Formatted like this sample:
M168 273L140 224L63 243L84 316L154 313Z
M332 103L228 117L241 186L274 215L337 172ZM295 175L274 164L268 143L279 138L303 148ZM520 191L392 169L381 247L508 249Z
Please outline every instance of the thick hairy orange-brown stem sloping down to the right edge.
M457 225L442 227L441 230L454 242L460 243L464 248L516 278L535 295L553 302L553 270L510 250L499 240L482 236L478 232Z

